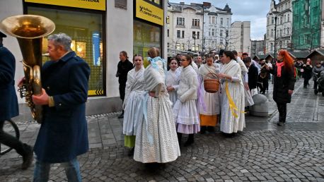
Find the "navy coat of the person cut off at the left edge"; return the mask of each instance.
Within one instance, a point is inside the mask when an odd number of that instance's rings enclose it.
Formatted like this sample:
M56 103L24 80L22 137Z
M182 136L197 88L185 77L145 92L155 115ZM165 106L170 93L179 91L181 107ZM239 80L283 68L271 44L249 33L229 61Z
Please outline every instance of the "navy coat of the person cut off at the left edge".
M16 61L11 52L0 44L0 121L18 116L15 90Z

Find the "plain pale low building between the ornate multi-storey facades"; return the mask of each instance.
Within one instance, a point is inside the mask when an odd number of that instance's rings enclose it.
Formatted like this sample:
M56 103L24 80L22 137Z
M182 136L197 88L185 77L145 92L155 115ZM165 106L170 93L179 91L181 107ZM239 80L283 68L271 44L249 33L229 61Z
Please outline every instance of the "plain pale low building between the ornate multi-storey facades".
M251 50L251 25L250 21L235 21L231 24L231 29L228 32L228 50L236 50L238 54Z

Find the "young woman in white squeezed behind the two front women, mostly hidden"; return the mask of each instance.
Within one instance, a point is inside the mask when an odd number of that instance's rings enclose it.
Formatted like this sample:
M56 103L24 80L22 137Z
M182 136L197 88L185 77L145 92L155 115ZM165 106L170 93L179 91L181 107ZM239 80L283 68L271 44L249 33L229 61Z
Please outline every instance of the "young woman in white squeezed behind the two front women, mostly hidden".
M166 90L168 90L169 99L172 104L177 101L177 90L180 80L180 70L178 69L178 61L175 58L170 60L170 70L166 73Z

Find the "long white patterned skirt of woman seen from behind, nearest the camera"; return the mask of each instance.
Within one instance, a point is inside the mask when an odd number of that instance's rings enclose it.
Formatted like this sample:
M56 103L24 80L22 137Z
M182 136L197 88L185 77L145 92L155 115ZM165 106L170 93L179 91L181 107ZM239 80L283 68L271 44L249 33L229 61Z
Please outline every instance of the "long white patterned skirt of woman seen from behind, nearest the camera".
M148 134L153 137L151 143ZM134 160L143 163L166 163L174 161L179 156L180 147L168 95L161 95L159 98L149 97L147 101L147 130L146 121L139 122Z

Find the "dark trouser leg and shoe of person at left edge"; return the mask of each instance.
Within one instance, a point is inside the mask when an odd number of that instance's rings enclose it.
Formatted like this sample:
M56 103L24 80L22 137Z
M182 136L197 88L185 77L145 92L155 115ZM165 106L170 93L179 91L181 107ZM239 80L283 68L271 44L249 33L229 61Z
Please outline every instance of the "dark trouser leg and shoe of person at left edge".
M27 154L29 149L27 144L13 137L13 135L9 135L4 132L4 121L0 121L0 143L13 148L22 156Z

